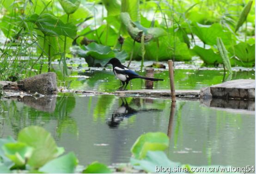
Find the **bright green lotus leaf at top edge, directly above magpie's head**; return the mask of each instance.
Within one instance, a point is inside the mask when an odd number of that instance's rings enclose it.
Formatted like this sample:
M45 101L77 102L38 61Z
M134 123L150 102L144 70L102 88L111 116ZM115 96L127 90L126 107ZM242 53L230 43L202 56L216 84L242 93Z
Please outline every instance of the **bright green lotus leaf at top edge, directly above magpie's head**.
M102 0L105 8L108 11L108 16L117 16L121 11L120 0Z

